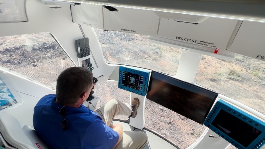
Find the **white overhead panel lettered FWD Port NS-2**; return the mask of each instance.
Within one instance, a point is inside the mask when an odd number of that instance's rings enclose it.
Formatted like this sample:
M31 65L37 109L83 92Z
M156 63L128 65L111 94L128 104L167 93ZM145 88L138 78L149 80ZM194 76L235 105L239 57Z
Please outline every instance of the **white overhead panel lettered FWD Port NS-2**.
M105 30L157 35L159 18L152 11L115 8L118 11L103 8Z

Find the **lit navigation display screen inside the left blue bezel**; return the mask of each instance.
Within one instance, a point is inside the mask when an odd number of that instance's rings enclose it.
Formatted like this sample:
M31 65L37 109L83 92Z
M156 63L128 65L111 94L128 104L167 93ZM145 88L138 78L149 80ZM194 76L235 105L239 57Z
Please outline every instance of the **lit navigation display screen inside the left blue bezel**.
M131 72L123 71L122 85L131 89L142 91L143 88L143 75L133 74Z

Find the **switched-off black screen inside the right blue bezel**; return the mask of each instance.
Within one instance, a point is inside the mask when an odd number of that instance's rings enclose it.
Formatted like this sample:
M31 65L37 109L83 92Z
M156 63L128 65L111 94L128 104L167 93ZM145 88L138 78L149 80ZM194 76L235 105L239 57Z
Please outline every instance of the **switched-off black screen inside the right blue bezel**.
M261 134L260 130L223 109L220 109L211 124L244 147L248 147Z

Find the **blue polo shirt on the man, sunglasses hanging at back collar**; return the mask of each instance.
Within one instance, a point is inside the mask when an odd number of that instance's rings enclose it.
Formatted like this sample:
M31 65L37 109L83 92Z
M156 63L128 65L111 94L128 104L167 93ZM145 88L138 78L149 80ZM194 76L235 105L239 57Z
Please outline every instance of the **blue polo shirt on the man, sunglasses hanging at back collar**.
M68 130L61 129L63 107L55 102L56 95L42 97L34 107L33 126L37 135L51 149L110 149L119 139L118 132L105 125L100 116L84 105L66 107Z

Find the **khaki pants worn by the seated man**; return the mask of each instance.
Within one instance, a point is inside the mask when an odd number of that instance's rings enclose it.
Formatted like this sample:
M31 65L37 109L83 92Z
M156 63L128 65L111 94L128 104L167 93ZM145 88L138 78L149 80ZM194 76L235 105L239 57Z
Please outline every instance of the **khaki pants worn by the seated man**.
M131 115L131 106L116 99L111 99L95 111L107 126L116 115ZM141 131L124 131L122 140L112 149L143 149L147 144L147 135Z

